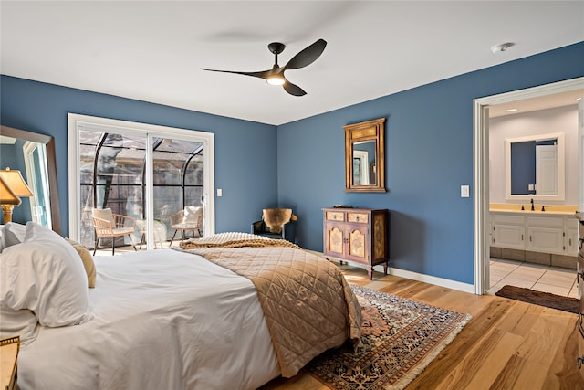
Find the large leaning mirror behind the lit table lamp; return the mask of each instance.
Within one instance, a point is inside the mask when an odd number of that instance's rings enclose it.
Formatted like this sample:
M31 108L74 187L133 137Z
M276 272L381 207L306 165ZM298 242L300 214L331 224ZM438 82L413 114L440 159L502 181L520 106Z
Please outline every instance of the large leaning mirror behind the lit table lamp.
M61 233L55 139L49 135L0 126L1 169L18 169L35 198L23 198L13 216L25 216ZM26 209L20 210L21 207Z

